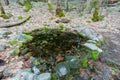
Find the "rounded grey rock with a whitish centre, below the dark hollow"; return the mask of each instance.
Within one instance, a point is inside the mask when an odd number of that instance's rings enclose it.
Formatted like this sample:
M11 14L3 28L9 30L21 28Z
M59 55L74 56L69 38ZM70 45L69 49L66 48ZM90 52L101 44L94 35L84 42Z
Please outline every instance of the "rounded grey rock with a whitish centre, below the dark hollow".
M70 68L65 63L61 62L56 65L56 73L58 76L65 76L70 72Z

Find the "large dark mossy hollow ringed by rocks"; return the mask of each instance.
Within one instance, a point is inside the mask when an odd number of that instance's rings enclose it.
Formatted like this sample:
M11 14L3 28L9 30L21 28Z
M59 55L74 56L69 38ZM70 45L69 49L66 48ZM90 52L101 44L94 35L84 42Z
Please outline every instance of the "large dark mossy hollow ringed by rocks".
M79 32L70 31L67 28L40 28L31 32L33 39L24 43L23 48L29 48L35 56L49 56L65 54L85 43L88 38L83 37ZM80 42L79 42L80 41Z

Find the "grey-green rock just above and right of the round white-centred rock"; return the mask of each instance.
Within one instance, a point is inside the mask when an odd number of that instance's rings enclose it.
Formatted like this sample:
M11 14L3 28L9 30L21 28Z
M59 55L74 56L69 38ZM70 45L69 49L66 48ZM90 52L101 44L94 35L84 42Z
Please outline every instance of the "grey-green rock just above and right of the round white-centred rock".
M79 68L78 56L65 56L65 60L68 62L70 68Z

